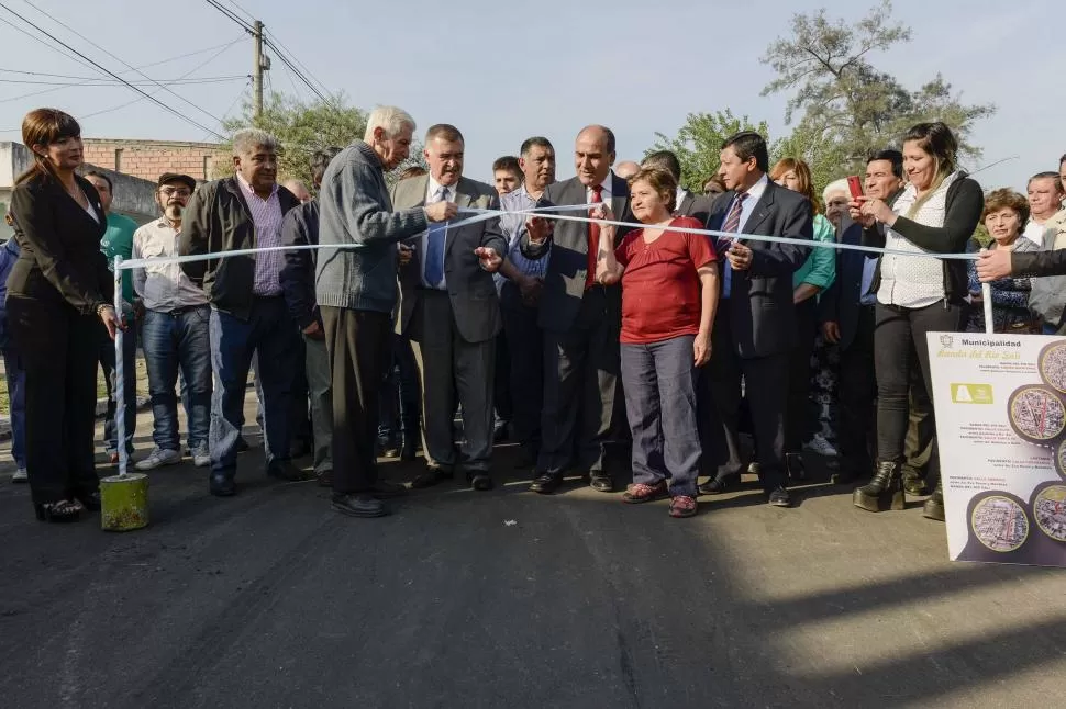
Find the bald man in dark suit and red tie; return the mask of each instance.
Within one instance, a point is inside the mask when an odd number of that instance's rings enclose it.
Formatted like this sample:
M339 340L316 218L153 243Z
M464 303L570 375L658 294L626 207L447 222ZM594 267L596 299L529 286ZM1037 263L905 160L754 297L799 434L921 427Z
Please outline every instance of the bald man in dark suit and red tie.
M629 187L611 171L614 134L590 125L574 147L577 177L548 185L542 206L607 202L622 222L632 222ZM548 240L544 220L530 220L523 254L537 258ZM614 481L604 468L609 439L620 423L618 392L622 295L618 285L596 283L599 226L558 222L551 237L552 260L541 292L544 329L542 446L530 489L553 493L571 464L587 471L593 489L609 493ZM618 238L624 236L620 228Z

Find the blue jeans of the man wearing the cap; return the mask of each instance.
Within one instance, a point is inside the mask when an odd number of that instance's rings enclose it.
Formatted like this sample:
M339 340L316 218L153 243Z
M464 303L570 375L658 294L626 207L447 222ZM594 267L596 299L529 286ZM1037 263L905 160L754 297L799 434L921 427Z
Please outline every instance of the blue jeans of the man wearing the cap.
M141 347L148 369L148 393L155 421L152 440L158 448L180 450L178 398L175 386L181 371L181 399L189 419L189 448L207 447L211 425L211 308L207 305L179 313L146 311Z

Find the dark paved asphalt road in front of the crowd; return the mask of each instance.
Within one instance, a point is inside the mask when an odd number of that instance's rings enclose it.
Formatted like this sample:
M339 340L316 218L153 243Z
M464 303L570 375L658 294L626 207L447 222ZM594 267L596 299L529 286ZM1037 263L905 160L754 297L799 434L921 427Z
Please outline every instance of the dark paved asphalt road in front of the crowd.
M254 449L232 499L191 465L153 472L152 526L126 534L35 521L3 469L0 706L999 708L1066 689L1064 572L951 564L917 507L870 515L814 482L796 509L752 488L673 520L579 481L532 495L512 460L491 493L358 520L268 482Z

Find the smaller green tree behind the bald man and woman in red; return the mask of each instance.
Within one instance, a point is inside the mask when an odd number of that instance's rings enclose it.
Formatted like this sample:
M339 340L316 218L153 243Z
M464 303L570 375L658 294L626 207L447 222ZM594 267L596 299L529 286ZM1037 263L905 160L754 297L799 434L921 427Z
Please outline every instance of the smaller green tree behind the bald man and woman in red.
M758 131L765 137L766 121L754 125L746 115L737 119L729 109L717 113L689 113L677 137L656 133L655 145L644 151L644 157L656 150L673 151L681 164L681 185L701 194L703 183L718 172L722 143L740 131Z

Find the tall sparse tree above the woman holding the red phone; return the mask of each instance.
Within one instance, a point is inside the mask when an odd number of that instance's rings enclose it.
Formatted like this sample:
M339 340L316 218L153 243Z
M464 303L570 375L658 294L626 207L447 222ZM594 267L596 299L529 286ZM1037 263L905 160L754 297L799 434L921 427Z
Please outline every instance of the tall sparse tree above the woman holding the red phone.
M855 171L871 149L898 146L907 128L923 121L943 121L958 137L962 157L980 157L968 137L975 121L995 113L992 104L963 103L939 74L911 91L870 64L873 53L911 38L891 14L890 0L854 24L826 18L824 9L796 14L791 32L762 58L778 75L763 95L791 92L785 122L801 117L786 143L802 150L795 157L811 162L817 173Z

